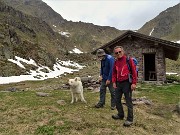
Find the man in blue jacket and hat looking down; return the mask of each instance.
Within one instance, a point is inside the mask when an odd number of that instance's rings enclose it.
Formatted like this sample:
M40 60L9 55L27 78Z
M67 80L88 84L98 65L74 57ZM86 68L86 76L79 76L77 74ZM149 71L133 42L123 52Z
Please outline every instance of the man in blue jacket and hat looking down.
M104 52L103 49L97 50L97 57L101 61L101 69L99 81L100 86L100 100L95 105L96 108L102 108L105 105L106 87L109 88L111 93L111 109L115 109L115 90L112 84L112 69L114 65L114 58Z

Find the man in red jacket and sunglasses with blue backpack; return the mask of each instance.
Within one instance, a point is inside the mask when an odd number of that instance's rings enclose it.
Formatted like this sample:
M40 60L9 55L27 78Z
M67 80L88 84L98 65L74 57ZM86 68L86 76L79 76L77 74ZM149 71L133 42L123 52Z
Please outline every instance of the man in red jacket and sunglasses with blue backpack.
M122 95L124 94L126 105L128 108L127 119L124 122L124 126L130 126L133 124L133 104L132 104L132 91L136 88L137 73L136 67L132 60L129 59L129 65L131 71L127 65L127 56L123 50L123 47L116 46L114 48L114 54L116 61L113 66L112 82L113 87L115 88L115 99L116 99L116 108L118 114L112 115L113 119L124 119L124 110L121 103ZM129 81L129 74L132 74L132 81Z

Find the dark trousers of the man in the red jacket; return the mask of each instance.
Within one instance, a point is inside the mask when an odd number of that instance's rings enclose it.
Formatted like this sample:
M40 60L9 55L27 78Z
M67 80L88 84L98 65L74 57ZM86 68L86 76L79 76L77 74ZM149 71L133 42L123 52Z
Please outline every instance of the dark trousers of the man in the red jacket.
M121 103L122 95L124 94L126 100L126 106L128 108L127 120L133 121L133 104L132 104L132 90L129 81L117 82L117 88L115 90L116 108L118 115L124 117L124 110Z

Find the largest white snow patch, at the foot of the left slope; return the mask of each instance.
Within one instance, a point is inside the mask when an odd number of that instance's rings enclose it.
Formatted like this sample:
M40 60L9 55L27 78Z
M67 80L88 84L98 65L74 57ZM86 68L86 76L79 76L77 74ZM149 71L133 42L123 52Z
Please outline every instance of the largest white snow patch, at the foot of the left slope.
M25 69L25 66L21 62L24 62L28 65L29 64L34 65L37 67L37 69L28 71L27 72L28 75L0 77L0 84L7 84L7 83L14 83L14 82L28 81L28 80L45 80L48 78L58 78L61 75L66 75L67 73L73 73L85 67L70 60L61 61L59 59L56 60L56 63L53 66L53 70L51 70L47 66L36 64L36 62L32 59L26 60L18 56L15 56L14 60L9 59L9 61L17 64L19 67L23 69ZM73 69L69 67L73 67Z

